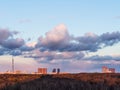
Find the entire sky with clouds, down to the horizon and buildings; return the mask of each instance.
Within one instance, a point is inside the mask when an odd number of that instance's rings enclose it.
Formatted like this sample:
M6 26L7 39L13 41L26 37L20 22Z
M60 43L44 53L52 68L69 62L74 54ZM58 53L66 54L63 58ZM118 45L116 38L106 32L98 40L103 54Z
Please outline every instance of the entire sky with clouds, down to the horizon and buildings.
M119 0L0 0L0 71L120 67Z

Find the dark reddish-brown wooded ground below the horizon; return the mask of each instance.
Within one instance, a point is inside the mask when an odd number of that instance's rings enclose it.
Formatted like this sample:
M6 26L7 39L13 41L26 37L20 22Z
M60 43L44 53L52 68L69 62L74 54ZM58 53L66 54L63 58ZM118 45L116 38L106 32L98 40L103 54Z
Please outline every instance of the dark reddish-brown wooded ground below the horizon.
M120 90L120 74L4 74L0 90Z

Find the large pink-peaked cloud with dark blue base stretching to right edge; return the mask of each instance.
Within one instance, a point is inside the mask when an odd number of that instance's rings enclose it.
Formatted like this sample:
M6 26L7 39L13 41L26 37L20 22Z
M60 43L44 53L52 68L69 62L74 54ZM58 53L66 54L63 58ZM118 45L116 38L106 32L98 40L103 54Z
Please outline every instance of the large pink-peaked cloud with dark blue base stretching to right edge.
M120 32L103 33L96 35L86 33L83 36L75 37L70 35L64 24L56 26L47 32L45 37L40 36L37 48L50 51L89 51L96 52L106 46L112 46L120 41Z

